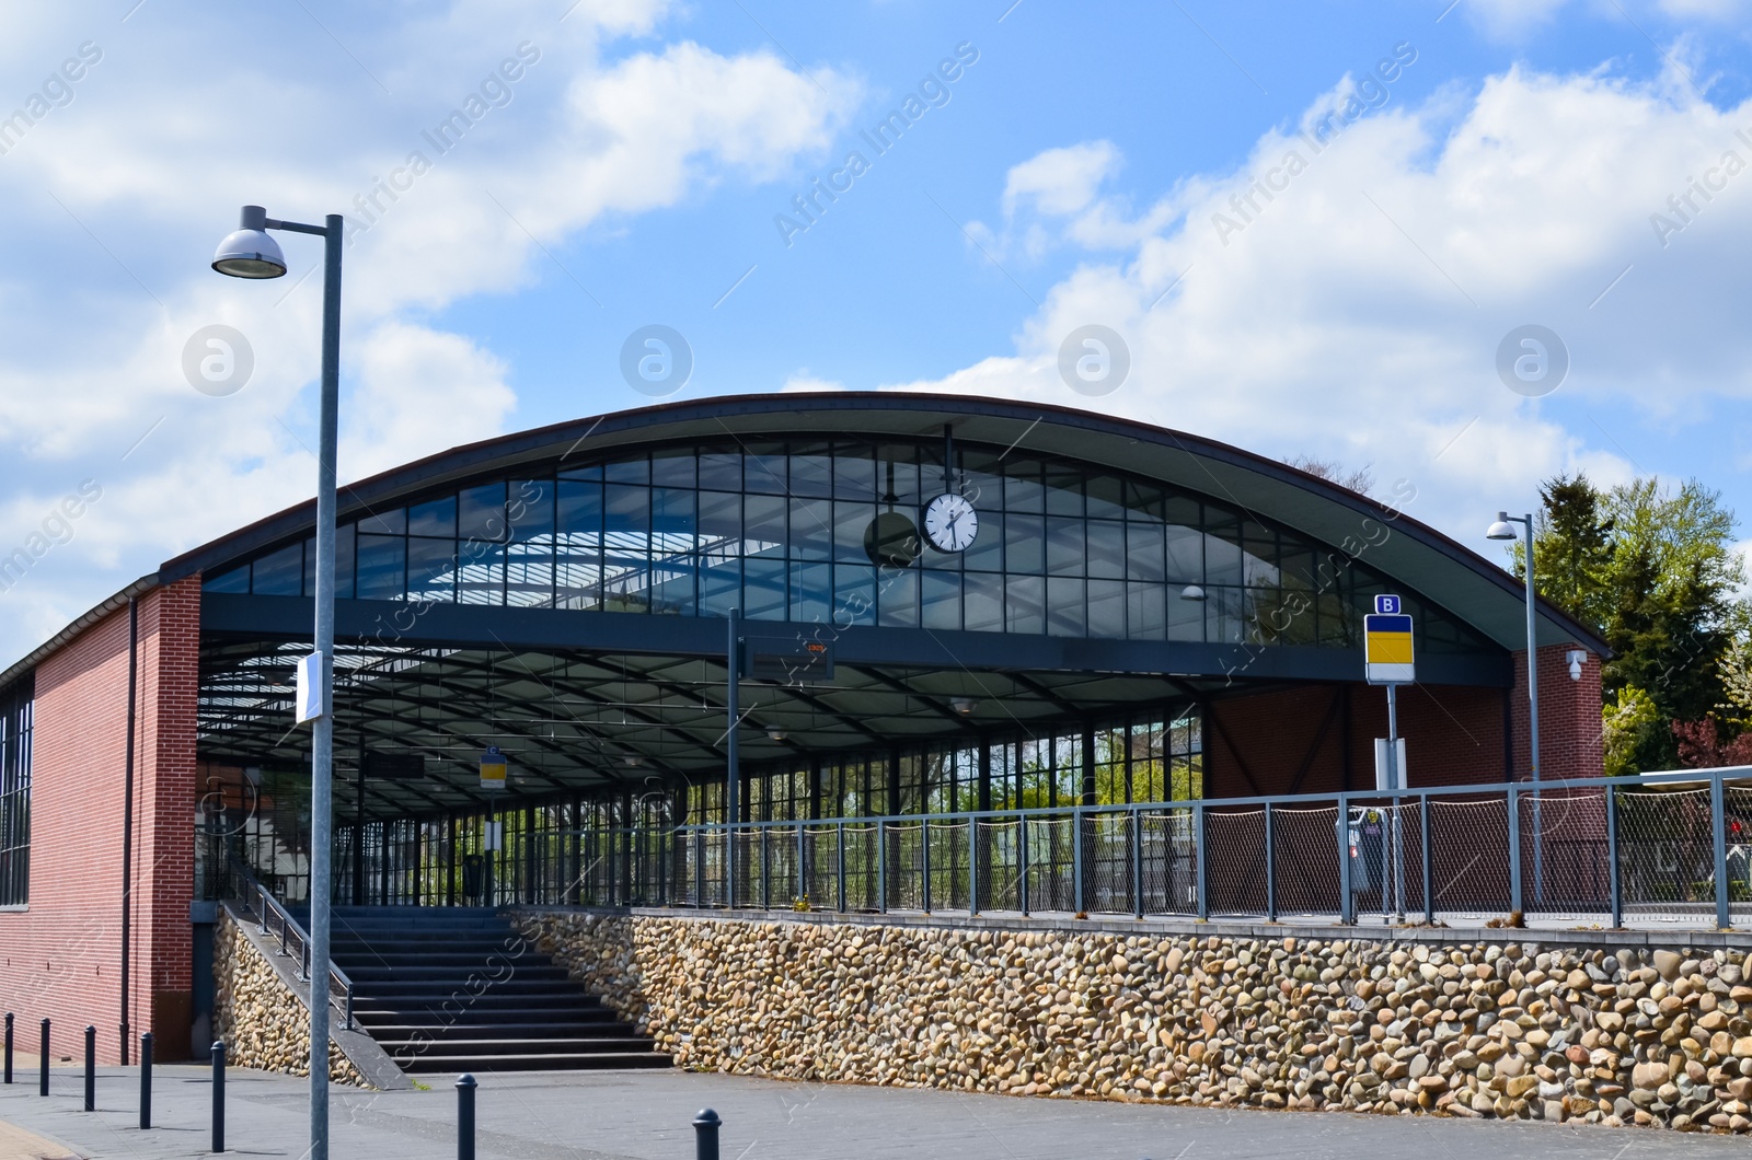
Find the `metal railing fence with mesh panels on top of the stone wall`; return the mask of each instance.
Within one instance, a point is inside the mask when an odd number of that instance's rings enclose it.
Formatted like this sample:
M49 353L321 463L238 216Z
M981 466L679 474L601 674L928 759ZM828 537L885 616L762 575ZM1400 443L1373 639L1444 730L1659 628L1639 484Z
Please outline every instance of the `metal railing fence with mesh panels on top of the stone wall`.
M538 901L1726 929L1752 923L1752 767L597 831L592 848Z

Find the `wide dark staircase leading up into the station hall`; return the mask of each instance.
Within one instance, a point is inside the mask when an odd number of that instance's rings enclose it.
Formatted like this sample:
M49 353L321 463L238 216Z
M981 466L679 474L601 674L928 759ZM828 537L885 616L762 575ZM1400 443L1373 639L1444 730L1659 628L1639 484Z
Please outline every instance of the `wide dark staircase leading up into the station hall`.
M354 1018L406 1072L668 1067L492 909L336 906Z

